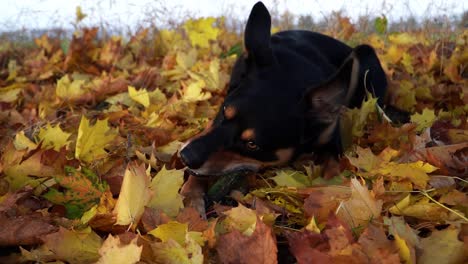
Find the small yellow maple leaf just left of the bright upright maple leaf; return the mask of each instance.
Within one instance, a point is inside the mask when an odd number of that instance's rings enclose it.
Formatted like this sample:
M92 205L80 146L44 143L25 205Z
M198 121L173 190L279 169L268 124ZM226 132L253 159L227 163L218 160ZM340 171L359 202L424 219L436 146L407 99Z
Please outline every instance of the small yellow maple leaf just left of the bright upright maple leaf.
M52 126L47 123L45 127L41 127L37 135L37 141L42 142L42 146L46 149L52 148L59 151L62 147L68 146L68 138L71 133L64 132L59 125Z

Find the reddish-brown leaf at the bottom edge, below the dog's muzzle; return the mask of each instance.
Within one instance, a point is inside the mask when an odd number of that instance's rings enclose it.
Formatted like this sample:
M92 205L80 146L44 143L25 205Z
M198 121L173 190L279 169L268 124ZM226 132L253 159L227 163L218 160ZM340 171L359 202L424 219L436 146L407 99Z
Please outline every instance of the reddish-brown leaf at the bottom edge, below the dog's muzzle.
M248 250L246 250L248 249ZM234 229L220 235L216 251L221 263L277 263L276 238L270 226L257 219L250 236Z

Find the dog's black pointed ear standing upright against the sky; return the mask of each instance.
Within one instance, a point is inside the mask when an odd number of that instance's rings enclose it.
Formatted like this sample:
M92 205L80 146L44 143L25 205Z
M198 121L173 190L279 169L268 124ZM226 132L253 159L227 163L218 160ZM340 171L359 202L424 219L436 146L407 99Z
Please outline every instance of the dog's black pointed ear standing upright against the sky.
M270 47L271 17L262 2L257 2L250 12L244 33L244 44L248 57L258 66L270 65L274 62Z

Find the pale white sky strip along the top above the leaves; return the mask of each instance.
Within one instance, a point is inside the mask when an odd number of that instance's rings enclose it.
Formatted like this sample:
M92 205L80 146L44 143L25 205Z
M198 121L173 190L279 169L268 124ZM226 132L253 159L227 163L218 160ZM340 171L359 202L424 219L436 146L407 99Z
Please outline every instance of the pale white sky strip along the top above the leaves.
M194 17L230 14L246 20L256 0L0 0L0 31L21 29L72 28L75 9L81 6L88 17L86 25L135 27L189 14ZM466 0L264 0L279 13L310 14L320 20L332 11L342 10L352 19L359 15L382 15L391 21L408 16L459 15L468 8Z

